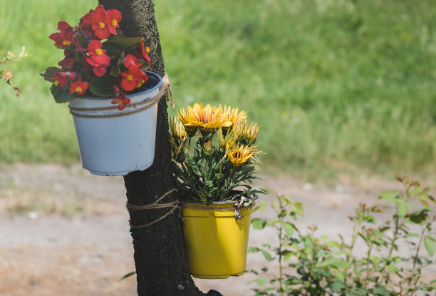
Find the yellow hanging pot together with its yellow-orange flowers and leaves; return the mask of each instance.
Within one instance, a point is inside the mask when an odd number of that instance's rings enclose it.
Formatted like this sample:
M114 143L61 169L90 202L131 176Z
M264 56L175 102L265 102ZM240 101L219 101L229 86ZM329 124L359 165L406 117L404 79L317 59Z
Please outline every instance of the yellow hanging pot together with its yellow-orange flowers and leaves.
M172 168L185 219L191 274L201 278L242 275L246 265L254 162L259 126L230 106L182 108L170 119ZM243 188L244 190L237 190Z

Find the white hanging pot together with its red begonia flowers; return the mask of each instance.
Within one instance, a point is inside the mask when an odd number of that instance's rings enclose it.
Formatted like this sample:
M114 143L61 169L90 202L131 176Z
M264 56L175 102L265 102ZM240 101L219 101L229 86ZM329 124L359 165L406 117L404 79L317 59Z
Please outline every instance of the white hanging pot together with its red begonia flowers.
M147 71L150 49L142 37L123 34L122 18L98 5L77 26L59 21L49 38L64 58L60 68L41 74L55 101L69 102L83 168L96 175L126 175L152 164L156 103L170 87Z

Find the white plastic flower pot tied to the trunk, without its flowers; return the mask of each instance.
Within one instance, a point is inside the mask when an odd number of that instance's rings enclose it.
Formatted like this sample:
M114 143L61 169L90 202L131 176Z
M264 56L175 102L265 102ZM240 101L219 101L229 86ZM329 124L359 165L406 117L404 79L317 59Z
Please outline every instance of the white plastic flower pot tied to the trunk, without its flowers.
M69 102L83 168L94 175L145 170L155 156L157 103L162 78L147 71L145 91L128 95L123 111L113 98L80 97Z

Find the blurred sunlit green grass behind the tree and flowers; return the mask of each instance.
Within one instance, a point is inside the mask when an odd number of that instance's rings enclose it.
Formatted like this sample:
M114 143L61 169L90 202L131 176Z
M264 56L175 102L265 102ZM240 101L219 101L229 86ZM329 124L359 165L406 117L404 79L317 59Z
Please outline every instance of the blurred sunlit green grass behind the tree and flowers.
M10 66L20 98L0 84L0 161L77 161L67 106L54 103L37 73L61 58L48 39L57 21L76 24L97 1L32 4L26 17L24 0L0 9L0 48L32 54ZM436 173L432 1L155 4L177 108L245 110L261 126L266 167L300 178Z

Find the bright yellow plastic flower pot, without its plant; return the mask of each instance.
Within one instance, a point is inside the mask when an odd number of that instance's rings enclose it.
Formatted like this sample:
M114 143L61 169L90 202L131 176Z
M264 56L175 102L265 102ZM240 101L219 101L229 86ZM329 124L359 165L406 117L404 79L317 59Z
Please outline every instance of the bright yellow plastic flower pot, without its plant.
M187 262L193 277L219 279L243 275L251 207L235 218L234 201L182 203Z

